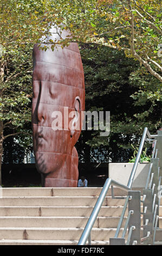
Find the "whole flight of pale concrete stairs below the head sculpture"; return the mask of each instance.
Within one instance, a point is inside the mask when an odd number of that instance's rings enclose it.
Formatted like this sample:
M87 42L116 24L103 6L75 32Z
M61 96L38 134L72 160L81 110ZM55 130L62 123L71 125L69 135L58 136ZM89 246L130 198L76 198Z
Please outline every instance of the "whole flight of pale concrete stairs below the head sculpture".
M77 245L100 192L100 187L3 188L0 245ZM126 196L119 188L114 194ZM92 230L92 245L109 244L124 203L124 199L112 199L108 191ZM162 206L159 212L162 227ZM157 241L161 235L157 230Z

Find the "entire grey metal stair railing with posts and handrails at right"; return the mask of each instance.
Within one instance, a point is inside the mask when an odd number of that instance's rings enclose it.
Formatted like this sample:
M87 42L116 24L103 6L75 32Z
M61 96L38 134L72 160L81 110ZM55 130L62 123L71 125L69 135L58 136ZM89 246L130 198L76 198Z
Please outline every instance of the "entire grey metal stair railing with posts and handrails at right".
M141 241L144 242L145 244L154 244L155 232L158 227L158 218L159 218L158 217L159 203L157 202L157 193L158 193L157 190L158 190L158 186L160 184L159 183L160 182L159 175L158 175L159 167L158 167L158 172L157 172L157 168L155 168L155 165L157 164L157 161L158 161L158 159L157 159L158 149L156 149L157 139L155 139L155 140L152 139L152 138L156 138L156 137L157 137L157 135L150 135L150 132L148 131L147 127L145 127L142 138L141 138L141 142L139 145L138 154L137 154L137 157L133 164L132 172L131 172L131 175L129 176L127 186L122 185L119 182L116 182L110 178L108 178L106 180L105 185L103 186L103 188L101 190L100 196L99 196L98 200L96 201L96 204L94 206L92 214L90 215L88 222L86 224L86 227L82 232L82 235L80 237L78 245L85 245L87 240L88 240L88 245L91 244L91 231L92 231L94 222L96 220L96 217L98 216L99 211L101 209L103 200L105 199L110 186L112 188L112 198L122 198L122 199L125 198L126 199L126 202L124 204L124 208L122 210L122 214L121 214L121 217L120 217L120 220L118 223L118 227L116 229L115 236L112 240L113 242L110 244L113 244L114 241L115 241L116 245L121 244L121 242L122 242L122 244L126 244L126 245L130 245L130 244L137 245ZM140 162L140 155L142 153L142 148L144 147L144 143L146 141L149 143L152 143L154 141L154 148L153 148L153 152L152 152L150 169L148 171L148 176L147 176L147 180L146 180L146 186L145 186L146 191L144 191L143 200L141 201L140 193L135 193L135 192L140 192L140 191L133 192L133 191L131 191L131 189L132 189L135 172L137 170L138 163ZM152 169L154 169L154 172L152 172ZM158 184L157 184L157 182L158 182ZM114 197L113 185L115 185L116 187L120 187L122 190L128 191L128 196L127 197ZM148 186L149 186L149 188L148 188ZM147 192L147 190L148 190L148 192ZM150 191L151 191L151 193L150 193ZM150 199L151 206L147 205L148 204L147 201L149 200L149 196L148 196L149 193L152 195L152 198ZM132 199L132 197L133 197L133 199ZM137 200L137 198L138 198L138 200ZM136 208L138 208L138 211L140 211L140 203L141 202L144 203L144 212L141 213L141 212L137 212L137 209L134 209L134 210L129 209L127 221L125 223L125 227L122 232L121 239L118 240L118 235L119 235L119 232L121 229L121 224L122 224L122 221L124 220L125 211L127 209L127 205L129 205L130 200L135 200L133 202L138 202L138 203L136 203L136 206L135 206ZM130 204L130 205L132 205L132 204ZM150 210L150 209L152 209L152 210ZM145 223L144 225L142 225L142 227L144 229L144 237L142 237L142 239L140 238L141 226L139 224L141 214L144 215L144 223ZM131 218L132 215L134 215L134 220ZM137 224L137 222L138 222L138 224ZM151 222L152 222L152 224L150 224ZM132 224L132 223L135 223L135 224ZM127 228L129 228L129 230L128 230L127 242L125 243L125 235L126 235ZM153 231L154 231L154 233L153 233ZM134 237L132 236L133 233L134 233ZM152 240L150 240L150 237L152 237ZM110 239L110 241L111 241L111 239Z

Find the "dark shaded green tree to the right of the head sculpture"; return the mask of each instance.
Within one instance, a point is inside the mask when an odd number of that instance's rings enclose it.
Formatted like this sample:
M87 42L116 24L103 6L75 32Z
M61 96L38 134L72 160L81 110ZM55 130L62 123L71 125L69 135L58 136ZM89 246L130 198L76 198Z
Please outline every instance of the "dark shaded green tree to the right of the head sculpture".
M127 162L133 154L131 144L138 145L144 127L151 133L161 127L161 98L155 96L157 78L145 74L138 62L127 59L121 51L88 44L80 47L86 111L111 112L108 138L100 137L100 131L82 131L76 144L80 161L85 161L88 148L91 151L89 162L93 157L98 161L100 158L100 161Z

